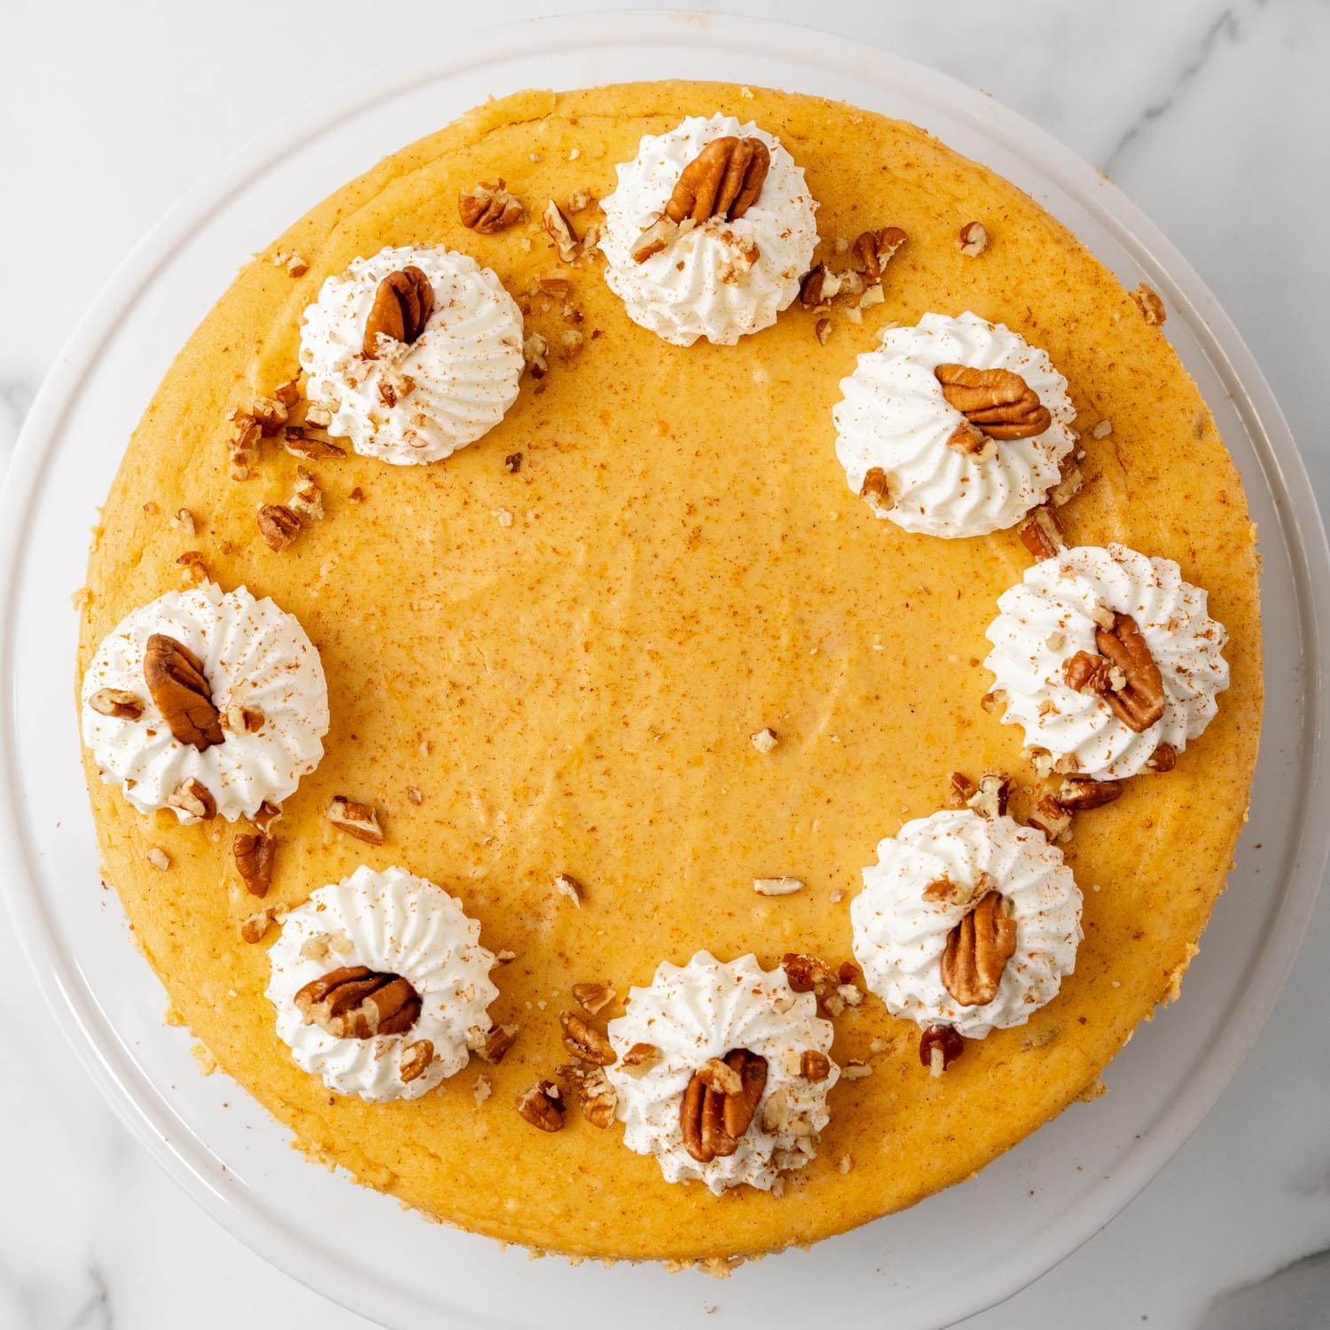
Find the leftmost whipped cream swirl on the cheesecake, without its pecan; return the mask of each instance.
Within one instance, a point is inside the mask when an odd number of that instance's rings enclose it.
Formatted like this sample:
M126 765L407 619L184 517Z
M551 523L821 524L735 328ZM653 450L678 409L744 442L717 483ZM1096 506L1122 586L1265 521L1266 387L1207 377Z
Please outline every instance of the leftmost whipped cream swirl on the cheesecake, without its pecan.
M144 678L148 638L174 637L203 666L225 739L200 751L181 743L153 701ZM106 716L93 706L98 693L129 694L141 709ZM250 713L250 730L227 714ZM141 813L170 807L181 822L197 822L172 795L198 781L229 822L250 817L265 801L295 793L323 757L329 692L319 653L294 614L245 587L226 593L213 583L166 592L128 614L97 648L82 681L82 738L101 778L118 785Z

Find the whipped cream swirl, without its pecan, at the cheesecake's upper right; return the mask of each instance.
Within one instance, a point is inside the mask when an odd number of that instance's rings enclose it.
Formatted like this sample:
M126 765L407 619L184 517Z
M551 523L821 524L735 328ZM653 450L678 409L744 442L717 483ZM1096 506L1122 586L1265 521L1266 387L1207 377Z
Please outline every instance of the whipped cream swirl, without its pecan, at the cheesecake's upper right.
M943 395L939 364L1019 374L1052 424L1029 439L990 440L978 454L950 447L966 418ZM924 314L914 327L887 329L841 392L831 419L850 488L861 493L880 468L887 495L874 512L924 536L984 536L1020 521L1057 484L1076 442L1076 408L1048 352L976 314Z

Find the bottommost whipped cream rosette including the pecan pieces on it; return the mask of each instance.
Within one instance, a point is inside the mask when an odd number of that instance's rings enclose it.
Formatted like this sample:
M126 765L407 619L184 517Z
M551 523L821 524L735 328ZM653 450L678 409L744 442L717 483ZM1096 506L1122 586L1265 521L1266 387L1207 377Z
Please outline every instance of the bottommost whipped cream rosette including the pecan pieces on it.
M841 1069L817 996L795 992L783 970L706 951L662 962L606 1033L624 1144L653 1154L666 1181L770 1190L817 1153Z

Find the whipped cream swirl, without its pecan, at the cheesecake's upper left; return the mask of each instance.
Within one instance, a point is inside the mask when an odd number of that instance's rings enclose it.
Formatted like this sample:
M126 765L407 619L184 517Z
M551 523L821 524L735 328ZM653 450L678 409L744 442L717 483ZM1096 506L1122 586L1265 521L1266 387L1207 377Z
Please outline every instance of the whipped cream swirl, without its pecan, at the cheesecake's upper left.
M366 359L364 323L379 283L414 266L434 313L415 342L380 338ZM383 249L330 277L305 311L306 396L332 414L329 434L398 466L438 462L475 443L517 400L521 310L473 258L427 245Z

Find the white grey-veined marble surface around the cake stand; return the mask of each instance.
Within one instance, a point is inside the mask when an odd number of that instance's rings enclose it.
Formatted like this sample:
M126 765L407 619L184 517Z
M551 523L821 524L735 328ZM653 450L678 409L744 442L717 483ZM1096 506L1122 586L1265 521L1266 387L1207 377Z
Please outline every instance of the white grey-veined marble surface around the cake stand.
M491 0L484 13L598 7ZM390 57L380 37L390 27L446 40L448 23L481 12L450 20L447 8L400 0L383 27L348 0L230 0L207 13L170 0L76 0L0 12L0 456L72 317L180 194L358 59ZM1330 298L1325 0L714 8L817 21L946 69L1109 172L1252 344L1326 511L1325 352L1314 334ZM1266 1033L1188 1145L1079 1253L971 1325L1330 1326L1327 952L1330 898ZM0 1330L368 1325L194 1209L43 1027L0 932ZM548 1323L559 1318L553 1310Z

